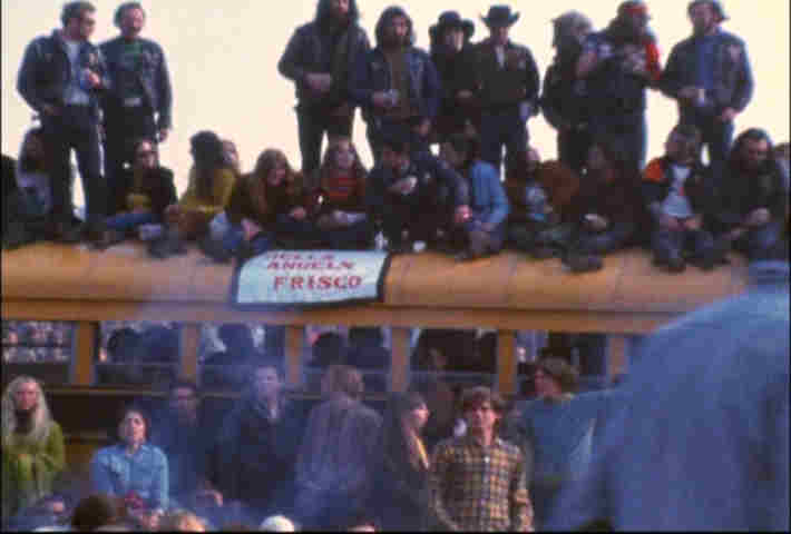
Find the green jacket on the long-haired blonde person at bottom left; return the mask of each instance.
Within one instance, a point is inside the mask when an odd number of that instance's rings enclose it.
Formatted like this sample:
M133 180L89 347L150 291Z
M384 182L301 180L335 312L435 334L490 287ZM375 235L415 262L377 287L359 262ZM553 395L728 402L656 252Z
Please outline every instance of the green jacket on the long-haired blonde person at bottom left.
M66 449L60 425L52 427L43 443L14 435L2 443L2 516L20 510L52 492L52 481L66 467Z

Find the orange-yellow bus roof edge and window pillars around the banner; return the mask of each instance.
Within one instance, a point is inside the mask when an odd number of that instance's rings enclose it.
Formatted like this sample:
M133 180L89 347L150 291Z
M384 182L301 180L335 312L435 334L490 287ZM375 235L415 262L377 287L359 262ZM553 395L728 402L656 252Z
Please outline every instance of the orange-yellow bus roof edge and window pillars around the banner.
M410 328L498 332L496 387L517 392L517 330L609 334L608 374L625 365L626 336L647 334L701 305L741 293L746 266L732 258L713 273L656 270L648 255L629 250L605 269L572 275L558 260L536 261L506 251L458 264L436 254L393 258L382 303L314 309L240 310L228 303L232 267L191 250L165 261L135 244L105 253L39 244L2 254L2 317L77 323L71 384L94 384L99 323L172 320L182 324L179 374L198 379L204 323L286 325L286 377L302 379L305 325L392 327L391 390L409 385Z

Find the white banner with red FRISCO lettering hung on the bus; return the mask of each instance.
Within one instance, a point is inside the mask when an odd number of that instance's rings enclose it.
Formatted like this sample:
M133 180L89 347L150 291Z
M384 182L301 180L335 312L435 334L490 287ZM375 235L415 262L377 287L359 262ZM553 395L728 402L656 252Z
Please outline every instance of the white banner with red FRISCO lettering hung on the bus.
M375 250L270 250L236 269L237 306L379 300L390 255Z

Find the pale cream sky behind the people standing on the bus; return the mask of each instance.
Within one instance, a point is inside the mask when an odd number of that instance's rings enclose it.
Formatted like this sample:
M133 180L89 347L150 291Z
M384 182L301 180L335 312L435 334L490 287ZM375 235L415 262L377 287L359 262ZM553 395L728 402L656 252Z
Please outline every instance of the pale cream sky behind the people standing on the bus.
M95 0L98 8L94 42L115 37L113 13L120 1ZM391 1L359 0L361 23L374 41L373 28ZM498 2L499 3L499 2ZM760 126L775 142L789 139L789 0L730 0L731 20L723 28L746 41L755 77L755 93L736 119L736 132ZM32 111L16 90L17 71L27 43L59 27L64 2L2 0L2 152L17 157ZM296 26L312 19L315 0L159 0L143 1L148 12L144 36L158 41L167 57L174 87L174 130L162 147L162 161L174 169L179 194L186 187L191 165L189 137L212 129L236 141L243 170L268 147L285 151L300 167L293 83L280 76L277 61ZM550 20L569 9L582 9L596 29L615 14L618 1L554 0L514 2L521 18L511 38L527 44L541 79L554 51ZM658 38L663 63L672 46L691 32L687 0L650 1L651 26ZM428 29L446 9L458 10L476 23L473 41L488 34L479 14L489 3L403 2L414 21L417 44L428 49ZM584 6L584 7L583 7ZM648 101L648 157L662 154L664 139L677 117L675 102L651 91ZM556 156L555 130L541 117L529 122L531 142L543 158ZM371 165L364 123L358 112L354 141L364 162ZM80 188L77 201L81 202Z

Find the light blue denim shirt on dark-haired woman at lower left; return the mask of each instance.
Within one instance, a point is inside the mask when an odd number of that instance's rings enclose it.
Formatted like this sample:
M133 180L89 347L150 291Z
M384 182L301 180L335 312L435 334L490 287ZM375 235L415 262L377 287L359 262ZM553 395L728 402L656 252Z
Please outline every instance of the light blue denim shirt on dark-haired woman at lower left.
M167 508L167 457L158 447L143 444L133 456L124 444L99 449L90 462L90 477L97 492L135 492L150 508Z

